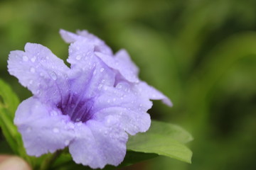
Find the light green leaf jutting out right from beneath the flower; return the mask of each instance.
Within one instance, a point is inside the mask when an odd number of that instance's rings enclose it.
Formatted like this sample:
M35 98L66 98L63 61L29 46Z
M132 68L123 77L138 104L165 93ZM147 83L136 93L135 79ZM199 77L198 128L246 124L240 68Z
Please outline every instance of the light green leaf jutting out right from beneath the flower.
M148 132L129 137L127 149L191 163L192 152L182 144L191 140L193 137L177 125L152 121Z

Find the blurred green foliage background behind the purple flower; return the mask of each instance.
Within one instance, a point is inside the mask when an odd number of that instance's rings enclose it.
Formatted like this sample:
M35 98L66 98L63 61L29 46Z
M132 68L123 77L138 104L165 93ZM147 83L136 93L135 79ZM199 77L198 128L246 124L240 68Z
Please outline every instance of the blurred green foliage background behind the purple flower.
M0 78L21 100L31 93L8 74L9 52L36 42L65 60L60 28L127 49L174 103L154 102L151 117L194 137L192 164L157 157L126 169L256 169L255 0L1 0ZM0 153L10 152L1 135Z

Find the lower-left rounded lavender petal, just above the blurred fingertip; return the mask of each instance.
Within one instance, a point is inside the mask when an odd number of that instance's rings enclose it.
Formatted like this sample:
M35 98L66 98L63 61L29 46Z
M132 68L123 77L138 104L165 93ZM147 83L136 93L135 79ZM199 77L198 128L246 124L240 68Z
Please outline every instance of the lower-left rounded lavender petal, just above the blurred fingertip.
M28 98L18 106L14 123L21 132L27 154L31 156L39 157L63 149L74 138L74 125L68 115L37 98Z

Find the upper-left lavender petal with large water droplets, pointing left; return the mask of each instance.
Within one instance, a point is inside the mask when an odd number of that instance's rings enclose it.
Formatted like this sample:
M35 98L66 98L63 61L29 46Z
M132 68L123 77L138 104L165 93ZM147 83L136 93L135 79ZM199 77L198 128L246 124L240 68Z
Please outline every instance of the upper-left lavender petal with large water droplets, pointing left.
M43 101L61 101L68 92L66 79L69 68L43 45L27 43L25 52L12 51L8 69L23 86Z

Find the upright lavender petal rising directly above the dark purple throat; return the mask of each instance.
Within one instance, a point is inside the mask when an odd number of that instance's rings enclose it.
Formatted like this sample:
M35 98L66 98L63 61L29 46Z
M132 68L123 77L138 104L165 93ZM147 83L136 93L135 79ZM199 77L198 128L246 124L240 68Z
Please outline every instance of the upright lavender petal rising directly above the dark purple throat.
M86 98L95 96L103 86L114 86L115 81L115 73L94 55L93 49L86 40L75 41L69 48L71 91Z

